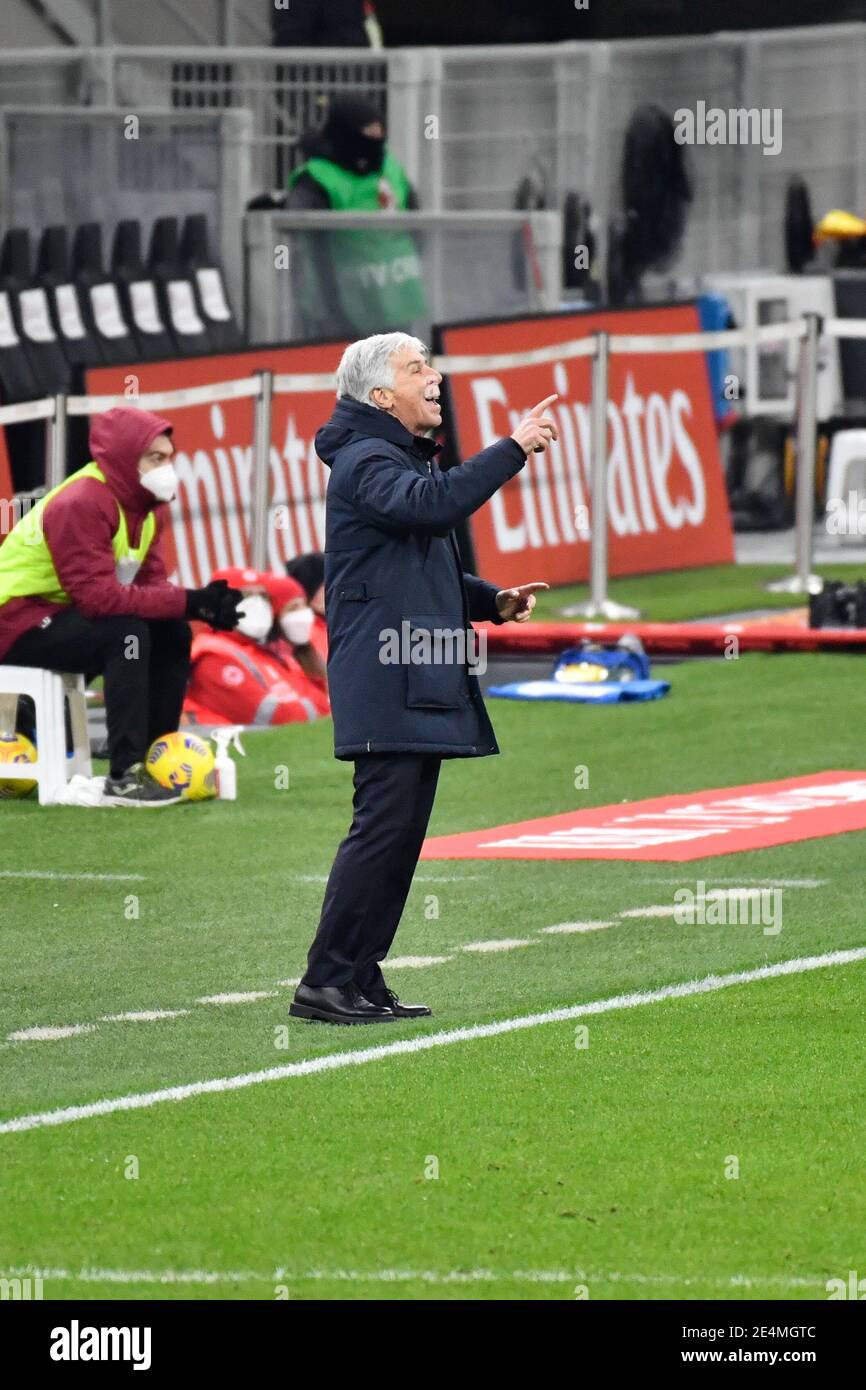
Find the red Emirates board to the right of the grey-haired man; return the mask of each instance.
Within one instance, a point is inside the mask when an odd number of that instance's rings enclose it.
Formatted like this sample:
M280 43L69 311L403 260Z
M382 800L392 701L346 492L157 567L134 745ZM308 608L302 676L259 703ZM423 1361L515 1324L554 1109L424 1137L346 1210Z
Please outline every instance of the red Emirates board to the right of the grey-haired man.
M612 334L699 332L694 304L555 314L441 329L449 356L527 352L598 329ZM610 574L645 574L734 559L706 359L702 352L610 354L607 509ZM591 359L449 378L461 459L509 435L538 400L559 442L473 517L478 573L500 585L573 584L589 574Z

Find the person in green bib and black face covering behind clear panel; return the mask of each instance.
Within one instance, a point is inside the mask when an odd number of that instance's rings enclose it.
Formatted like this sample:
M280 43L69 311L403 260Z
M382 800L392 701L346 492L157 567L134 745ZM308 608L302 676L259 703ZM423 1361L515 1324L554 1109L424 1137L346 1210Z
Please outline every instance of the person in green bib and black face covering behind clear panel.
M289 175L289 211L417 208L409 175L388 149L382 118L367 97L334 100L304 150L306 163ZM410 232L295 232L292 250L293 302L307 338L361 338L409 328L428 314Z

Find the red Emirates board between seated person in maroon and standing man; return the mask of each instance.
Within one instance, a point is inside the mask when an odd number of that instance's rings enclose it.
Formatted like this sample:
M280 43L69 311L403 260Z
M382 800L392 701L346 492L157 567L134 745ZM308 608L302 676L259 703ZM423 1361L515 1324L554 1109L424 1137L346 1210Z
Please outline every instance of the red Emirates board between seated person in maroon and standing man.
M172 361L96 367L86 391L95 396L140 395L236 381L256 371L334 373L343 342ZM135 399L131 398L131 404ZM265 569L325 543L328 470L316 455L316 431L334 410L334 391L274 396L268 555ZM165 563L188 588L206 584L214 570L249 564L253 466L253 402L221 400L157 411L174 425L175 467L181 478L165 532Z

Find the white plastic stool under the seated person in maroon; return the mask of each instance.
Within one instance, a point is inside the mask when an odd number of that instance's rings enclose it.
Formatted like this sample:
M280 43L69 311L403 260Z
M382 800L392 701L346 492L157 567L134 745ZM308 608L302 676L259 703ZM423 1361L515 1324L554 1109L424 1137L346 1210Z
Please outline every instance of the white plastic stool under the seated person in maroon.
M67 780L75 773L93 776L90 741L88 737L88 705L83 676L68 671L46 671L39 666L3 666L0 663L0 696L29 695L36 706L36 762L3 763L0 777L35 780L39 805L50 806ZM64 695L70 701L72 726L72 756L67 758Z

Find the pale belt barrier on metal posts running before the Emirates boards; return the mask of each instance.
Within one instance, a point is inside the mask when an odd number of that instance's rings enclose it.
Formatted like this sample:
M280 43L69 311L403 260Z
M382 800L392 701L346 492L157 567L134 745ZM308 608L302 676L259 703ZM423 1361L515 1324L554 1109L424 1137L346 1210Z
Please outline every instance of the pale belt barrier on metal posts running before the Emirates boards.
M709 352L719 348L742 348L756 343L799 343L799 374L796 391L796 499L795 499L795 573L780 581L784 592L806 595L815 591L812 574L813 498L816 466L816 391L820 338L866 339L865 318L828 318L805 314L799 321L766 324L758 328L733 328L720 332L692 334L606 334L553 343L520 353L484 356L439 356L436 367L443 374L498 371L506 367L538 366L575 357L592 360L591 396L591 594L587 605L573 610L587 617L621 619L628 610L612 603L607 596L607 366L619 353L683 353ZM147 410L182 410L185 406L210 404L221 400L250 399L254 403L252 455L252 555L250 563L264 569L268 534L268 464L271 449L271 403L274 396L313 391L334 391L332 373L274 374L260 371L236 381L220 381L181 391L142 393L135 404ZM63 396L0 406L0 425L25 420L49 421L49 449L46 486L53 488L65 475L65 427L71 416L90 416L113 406L129 406L125 395Z

